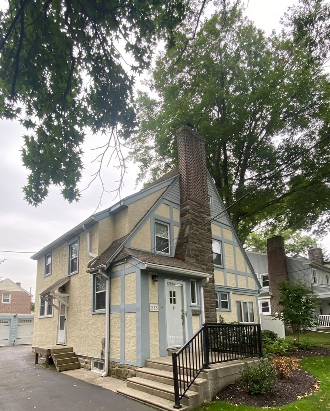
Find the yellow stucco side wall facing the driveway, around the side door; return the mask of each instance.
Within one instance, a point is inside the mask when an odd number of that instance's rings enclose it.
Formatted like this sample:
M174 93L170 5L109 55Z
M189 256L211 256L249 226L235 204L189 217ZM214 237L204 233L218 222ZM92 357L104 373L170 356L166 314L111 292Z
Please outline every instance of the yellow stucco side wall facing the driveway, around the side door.
M44 257L38 260L33 345L56 344L58 310L54 309L53 317L38 318L38 296L58 279L67 276L67 258L67 244L54 249L51 275L48 277L44 277ZM86 272L90 259L91 256L87 252L87 233L84 232L79 236L79 272L72 275L70 282L65 286L65 292L70 295L66 321L67 346L72 346L74 351L80 354L100 356L102 348L100 341L102 337L105 337L105 314L91 314L92 275ZM58 305L57 301L55 305ZM86 330L87 325L88 332L85 332L84 338L81 338L81 330Z

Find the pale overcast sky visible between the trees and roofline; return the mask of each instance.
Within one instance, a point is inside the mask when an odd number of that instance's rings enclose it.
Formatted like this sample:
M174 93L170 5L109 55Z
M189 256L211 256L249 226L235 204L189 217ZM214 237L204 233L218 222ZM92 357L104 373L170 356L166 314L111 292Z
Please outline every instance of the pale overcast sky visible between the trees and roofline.
M273 28L279 27L279 19L287 7L297 3L290 0L249 0L247 16L266 34ZM0 6L3 1L0 0ZM1 219L0 219L0 250L37 252L49 242L55 240L75 225L93 214L98 205L100 185L95 182L83 193L79 203L69 204L60 195L59 189L53 187L46 201L37 208L28 205L22 194L26 184L27 171L21 162L21 136L25 130L18 122L0 122L0 189L1 189ZM95 151L91 149L100 146L104 137L86 137L83 145L85 170L80 187L85 187L90 181L90 175L97 164L91 164ZM125 188L121 197L128 196L139 189L135 188L137 165L129 164L128 174L125 175ZM116 168L109 166L103 172L103 178L109 189L117 187L119 173ZM107 194L102 200L102 209L109 207L114 200L114 194ZM330 248L330 237L323 240L323 245ZM0 251L0 260L7 261L0 265L0 277L20 281L22 286L35 293L36 261L30 259L30 254L15 254Z

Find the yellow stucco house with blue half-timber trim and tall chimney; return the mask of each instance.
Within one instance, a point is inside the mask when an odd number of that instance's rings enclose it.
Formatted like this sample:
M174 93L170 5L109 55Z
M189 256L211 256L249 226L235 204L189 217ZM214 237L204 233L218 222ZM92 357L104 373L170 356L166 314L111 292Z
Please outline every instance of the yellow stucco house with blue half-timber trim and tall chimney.
M37 252L33 345L73 347L121 378L168 356L218 314L258 323L260 284L206 167L177 132L179 167Z

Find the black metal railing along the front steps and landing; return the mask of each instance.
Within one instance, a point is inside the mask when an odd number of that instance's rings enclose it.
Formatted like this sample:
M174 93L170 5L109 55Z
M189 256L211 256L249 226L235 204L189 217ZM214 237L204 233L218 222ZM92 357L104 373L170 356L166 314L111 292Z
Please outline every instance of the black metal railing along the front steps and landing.
M174 408L203 369L240 358L261 357L260 324L204 324L179 351L172 354Z

